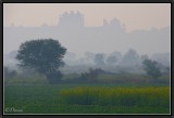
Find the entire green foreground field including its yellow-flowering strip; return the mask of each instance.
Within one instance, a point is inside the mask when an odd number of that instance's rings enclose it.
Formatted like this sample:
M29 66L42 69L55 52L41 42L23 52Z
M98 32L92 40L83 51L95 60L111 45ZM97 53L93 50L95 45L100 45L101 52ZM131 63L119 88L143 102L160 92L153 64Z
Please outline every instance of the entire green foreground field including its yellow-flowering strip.
M169 86L4 86L4 114L170 114Z

